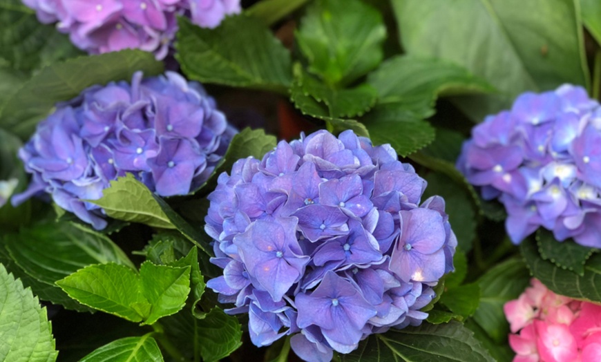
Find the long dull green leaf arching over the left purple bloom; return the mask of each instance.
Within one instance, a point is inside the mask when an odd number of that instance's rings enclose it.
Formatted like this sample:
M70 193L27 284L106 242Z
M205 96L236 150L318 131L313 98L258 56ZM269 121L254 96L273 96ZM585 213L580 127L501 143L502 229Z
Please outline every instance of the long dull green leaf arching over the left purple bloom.
M55 103L72 99L95 84L130 80L137 70L146 76L157 75L163 65L152 53L122 50L46 66L6 99L0 109L0 126L26 138Z

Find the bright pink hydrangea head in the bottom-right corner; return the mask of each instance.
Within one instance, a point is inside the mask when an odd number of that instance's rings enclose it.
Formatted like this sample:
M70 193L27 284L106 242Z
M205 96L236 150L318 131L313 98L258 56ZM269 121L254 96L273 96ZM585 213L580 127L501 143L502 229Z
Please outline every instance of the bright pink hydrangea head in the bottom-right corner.
M557 295L539 280L504 305L513 362L601 361L601 305Z

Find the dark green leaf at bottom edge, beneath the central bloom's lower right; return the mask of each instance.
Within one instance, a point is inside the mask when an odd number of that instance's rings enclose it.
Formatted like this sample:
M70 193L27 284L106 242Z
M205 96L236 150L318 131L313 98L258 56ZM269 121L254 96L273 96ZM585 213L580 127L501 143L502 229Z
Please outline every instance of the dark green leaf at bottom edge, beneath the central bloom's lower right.
M372 334L341 361L493 362L490 354L461 323L451 321Z

